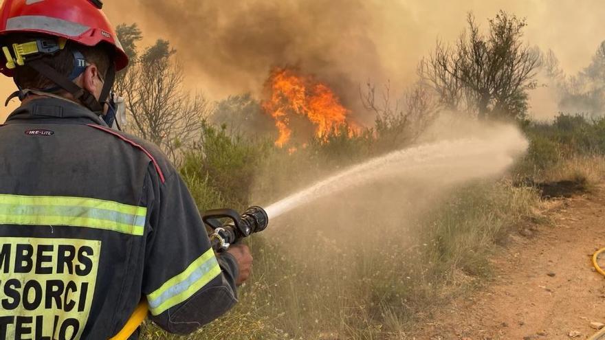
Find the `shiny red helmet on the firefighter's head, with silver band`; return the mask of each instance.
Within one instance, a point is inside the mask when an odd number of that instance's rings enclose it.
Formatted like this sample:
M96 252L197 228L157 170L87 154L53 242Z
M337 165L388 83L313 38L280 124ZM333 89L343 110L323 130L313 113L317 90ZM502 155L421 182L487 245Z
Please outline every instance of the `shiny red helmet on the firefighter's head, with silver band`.
M0 36L36 32L86 46L106 43L115 48L115 67L119 71L128 65L128 56L101 8L100 0L4 0ZM12 71L1 64L0 72L12 76Z

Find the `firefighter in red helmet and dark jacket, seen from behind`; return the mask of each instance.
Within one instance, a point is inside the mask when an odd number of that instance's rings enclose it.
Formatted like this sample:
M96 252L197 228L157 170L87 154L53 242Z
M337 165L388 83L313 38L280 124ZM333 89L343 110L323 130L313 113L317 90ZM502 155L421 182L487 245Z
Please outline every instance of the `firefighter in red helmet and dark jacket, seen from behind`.
M162 152L112 128L129 60L101 9L0 10L0 71L21 100L0 126L0 339L108 339L141 299L186 334L229 310L250 274L247 247L212 251Z

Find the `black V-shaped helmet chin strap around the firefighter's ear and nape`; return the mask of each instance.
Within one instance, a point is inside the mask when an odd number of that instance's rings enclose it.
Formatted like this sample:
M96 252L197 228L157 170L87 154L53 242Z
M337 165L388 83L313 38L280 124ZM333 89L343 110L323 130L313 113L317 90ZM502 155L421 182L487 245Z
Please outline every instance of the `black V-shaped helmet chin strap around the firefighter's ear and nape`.
M90 111L97 113L98 115L102 115L104 113L104 105L109 101L109 91L113 87L113 82L115 80L115 65L111 64L109 66L109 70L107 71L107 76L105 77L105 82L103 84L103 89L101 90L101 94L99 96L99 100L96 100L94 95L89 91L79 87L75 82L72 82L67 77L63 76L61 73L58 73L55 69L53 69L50 65L45 63L41 59L34 59L28 62L28 65L35 69L38 73L46 78L52 80L58 87L61 87L68 93L74 96L76 100L79 100L84 106L86 106Z

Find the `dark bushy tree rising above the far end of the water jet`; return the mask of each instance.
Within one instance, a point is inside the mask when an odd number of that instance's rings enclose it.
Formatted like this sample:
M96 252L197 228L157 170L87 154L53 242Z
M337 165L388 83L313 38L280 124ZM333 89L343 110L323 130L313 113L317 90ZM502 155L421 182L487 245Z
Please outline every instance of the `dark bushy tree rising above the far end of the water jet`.
M421 61L419 74L441 103L479 118L522 118L527 91L536 87L540 55L522 42L525 19L500 11L482 34L474 16L456 45L437 47Z

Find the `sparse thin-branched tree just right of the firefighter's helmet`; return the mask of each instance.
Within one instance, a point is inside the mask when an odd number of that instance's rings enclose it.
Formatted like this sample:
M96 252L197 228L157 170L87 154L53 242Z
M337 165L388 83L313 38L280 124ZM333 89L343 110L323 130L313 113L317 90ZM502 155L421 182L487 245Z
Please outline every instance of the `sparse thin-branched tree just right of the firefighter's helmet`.
M178 162L181 149L199 139L212 104L184 89L184 67L169 41L158 39L140 52L136 44L142 34L136 24L118 26L118 37L131 58L116 84L131 113L128 130L153 141Z

